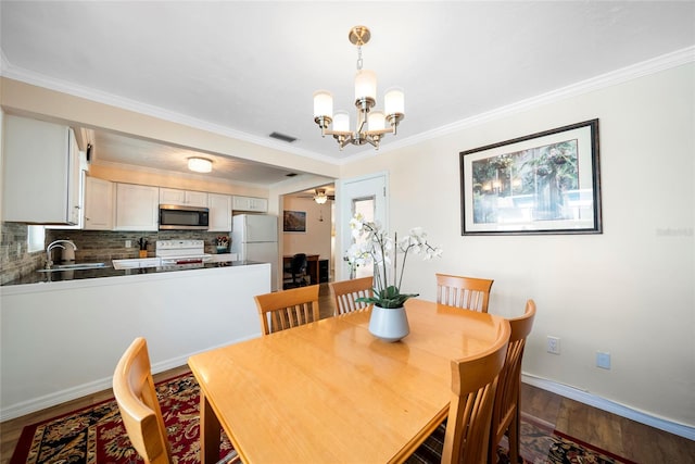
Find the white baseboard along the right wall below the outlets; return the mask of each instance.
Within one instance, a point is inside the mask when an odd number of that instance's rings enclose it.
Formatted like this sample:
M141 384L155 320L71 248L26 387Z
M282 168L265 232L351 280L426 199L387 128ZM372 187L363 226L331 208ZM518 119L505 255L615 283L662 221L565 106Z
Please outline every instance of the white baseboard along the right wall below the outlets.
M611 414L639 422L640 424L648 425L649 427L658 428L660 430L668 431L669 434L687 438L688 440L695 440L695 427L655 417L610 400L606 400L605 398L596 397L595 394L591 394L586 391L582 391L567 385L557 384L545 378L521 374L521 381L543 390L552 391L553 393L557 393L561 397L569 398L570 400L579 401L580 403L587 404L602 411L607 411Z

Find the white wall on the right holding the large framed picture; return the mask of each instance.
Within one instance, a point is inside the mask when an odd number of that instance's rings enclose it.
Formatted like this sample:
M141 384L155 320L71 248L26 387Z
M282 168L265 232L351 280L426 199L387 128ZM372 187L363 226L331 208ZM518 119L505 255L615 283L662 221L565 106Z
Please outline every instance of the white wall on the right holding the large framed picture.
M404 290L433 300L437 272L494 278L491 312L538 304L526 374L695 426L694 67L382 151L341 177L389 171L392 231L424 226L443 247L441 260L409 262ZM460 151L595 117L602 235L460 235ZM545 352L548 335L560 355ZM597 350L610 371L595 367Z

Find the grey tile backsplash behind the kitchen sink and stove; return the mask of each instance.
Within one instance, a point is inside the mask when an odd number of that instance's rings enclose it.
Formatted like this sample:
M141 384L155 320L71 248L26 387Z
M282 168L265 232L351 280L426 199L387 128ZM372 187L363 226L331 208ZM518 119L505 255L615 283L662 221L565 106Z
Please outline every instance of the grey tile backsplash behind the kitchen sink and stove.
M2 223L0 240L0 285L17 279L46 264L46 251L27 252L27 225ZM46 229L46 244L53 240L72 240L76 246L76 262L111 261L138 258L138 239L148 240L148 256L154 256L156 240L202 239L205 252L215 253L215 239L229 234L202 230L113 231ZM126 248L126 240L131 247ZM60 259L55 250L54 261Z

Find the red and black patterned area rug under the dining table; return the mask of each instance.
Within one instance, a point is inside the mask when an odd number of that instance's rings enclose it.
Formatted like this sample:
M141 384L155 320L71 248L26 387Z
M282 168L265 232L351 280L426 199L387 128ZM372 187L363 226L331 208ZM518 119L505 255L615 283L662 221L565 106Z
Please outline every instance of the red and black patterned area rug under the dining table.
M199 463L200 397L195 379L192 374L185 374L159 383L156 390L175 461L181 464ZM438 463L434 455L438 451L441 454L444 432L441 426L418 450L421 459L413 457L408 462ZM223 432L220 457L231 449ZM505 441L501 443L497 454L501 464L510 464ZM523 464L634 464L552 430L530 417L523 417L521 422L521 455ZM118 406L111 399L25 427L10 464L141 462L130 447Z

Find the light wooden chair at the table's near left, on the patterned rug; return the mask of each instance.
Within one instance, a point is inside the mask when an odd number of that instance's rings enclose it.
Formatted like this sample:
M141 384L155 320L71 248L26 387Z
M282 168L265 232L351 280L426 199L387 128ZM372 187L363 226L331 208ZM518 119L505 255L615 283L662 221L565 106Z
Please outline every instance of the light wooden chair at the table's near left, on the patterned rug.
M144 338L136 338L121 356L113 374L113 393L130 443L146 464L173 463ZM239 462L232 451L218 464Z

